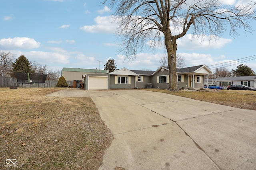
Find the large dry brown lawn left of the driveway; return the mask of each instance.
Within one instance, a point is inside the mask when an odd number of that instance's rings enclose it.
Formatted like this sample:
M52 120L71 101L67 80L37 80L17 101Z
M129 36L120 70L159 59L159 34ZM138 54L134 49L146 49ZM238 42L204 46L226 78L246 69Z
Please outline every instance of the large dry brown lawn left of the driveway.
M96 170L112 134L90 98L44 96L61 88L0 88L0 169ZM13 168L13 167L12 167Z

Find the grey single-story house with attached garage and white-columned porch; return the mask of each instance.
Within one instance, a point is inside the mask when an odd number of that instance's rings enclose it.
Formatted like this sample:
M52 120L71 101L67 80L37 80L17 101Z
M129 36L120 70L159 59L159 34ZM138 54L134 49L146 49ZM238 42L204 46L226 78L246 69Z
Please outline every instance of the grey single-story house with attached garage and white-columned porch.
M178 88L204 88L204 76L213 72L206 66L176 68ZM81 74L82 75L82 74ZM81 76L80 75L80 76ZM160 88L169 87L168 67L161 66L156 71L129 70L121 68L114 72L86 74L85 89L125 89L125 88Z

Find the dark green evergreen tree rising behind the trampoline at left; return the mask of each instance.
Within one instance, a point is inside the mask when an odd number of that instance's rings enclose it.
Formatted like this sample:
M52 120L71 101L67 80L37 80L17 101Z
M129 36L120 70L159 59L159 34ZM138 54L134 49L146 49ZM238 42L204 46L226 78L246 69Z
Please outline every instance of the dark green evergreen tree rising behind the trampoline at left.
M31 70L30 62L24 55L20 55L14 63L12 62L12 77L15 77L15 72L34 73L34 71Z

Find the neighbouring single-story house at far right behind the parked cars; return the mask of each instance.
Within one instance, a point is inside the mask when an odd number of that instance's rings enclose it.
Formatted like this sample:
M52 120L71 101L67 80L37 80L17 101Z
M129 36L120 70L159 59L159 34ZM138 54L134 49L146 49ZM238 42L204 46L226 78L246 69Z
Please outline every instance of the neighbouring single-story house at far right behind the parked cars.
M239 76L239 77L219 77L209 79L209 84L216 86L228 86L231 84L242 84L249 87L256 88L256 76ZM206 84L206 80L204 81Z

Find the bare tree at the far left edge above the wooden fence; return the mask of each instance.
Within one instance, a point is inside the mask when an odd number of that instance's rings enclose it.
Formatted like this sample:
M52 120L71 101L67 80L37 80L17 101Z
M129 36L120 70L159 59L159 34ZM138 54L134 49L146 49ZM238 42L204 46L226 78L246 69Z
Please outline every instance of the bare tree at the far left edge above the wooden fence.
M0 76L10 76L14 57L11 52L0 51Z

